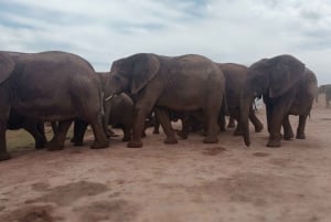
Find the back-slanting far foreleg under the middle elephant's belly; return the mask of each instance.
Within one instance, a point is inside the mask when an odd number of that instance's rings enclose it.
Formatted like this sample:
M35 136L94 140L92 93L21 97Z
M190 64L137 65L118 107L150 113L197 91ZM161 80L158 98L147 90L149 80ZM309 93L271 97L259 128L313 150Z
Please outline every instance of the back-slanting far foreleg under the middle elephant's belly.
M178 144L178 140L174 136L174 131L172 130L171 121L169 118L169 112L162 108L156 108L156 116L159 119L163 131L167 136L164 144Z

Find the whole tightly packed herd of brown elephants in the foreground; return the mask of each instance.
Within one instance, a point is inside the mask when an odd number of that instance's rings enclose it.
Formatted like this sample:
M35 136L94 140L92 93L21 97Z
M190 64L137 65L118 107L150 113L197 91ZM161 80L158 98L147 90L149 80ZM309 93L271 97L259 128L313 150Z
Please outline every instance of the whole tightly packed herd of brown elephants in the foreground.
M110 124L124 128L128 147L142 147L151 112L163 128L166 144L177 144L170 118L174 113L182 118L182 136L195 124L205 130L206 144L218 141L229 115L237 121L235 135L243 135L249 146L248 119L255 131L263 130L253 109L254 98L260 96L266 104L267 146L279 147L281 139L293 138L289 115L299 115L296 137L305 139L317 92L316 75L291 55L246 67L195 54L139 53L115 61L110 72L97 73L86 60L66 52L0 51L0 160L10 158L7 129L24 128L35 138L36 148L56 150L63 149L73 120L75 145L83 144L90 125L95 136L90 148L108 147ZM44 121L57 123L50 141Z

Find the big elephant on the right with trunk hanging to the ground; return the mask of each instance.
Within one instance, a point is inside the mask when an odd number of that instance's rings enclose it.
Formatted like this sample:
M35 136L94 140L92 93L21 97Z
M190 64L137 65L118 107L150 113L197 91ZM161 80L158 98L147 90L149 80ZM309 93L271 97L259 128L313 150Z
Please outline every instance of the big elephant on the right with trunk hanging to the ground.
M269 141L267 147L280 147L284 138L293 137L288 115L299 115L297 138L305 139L307 116L317 93L317 77L291 55L264 59L248 68L241 98L241 120L246 146L250 145L248 110L255 96L263 95L266 104Z

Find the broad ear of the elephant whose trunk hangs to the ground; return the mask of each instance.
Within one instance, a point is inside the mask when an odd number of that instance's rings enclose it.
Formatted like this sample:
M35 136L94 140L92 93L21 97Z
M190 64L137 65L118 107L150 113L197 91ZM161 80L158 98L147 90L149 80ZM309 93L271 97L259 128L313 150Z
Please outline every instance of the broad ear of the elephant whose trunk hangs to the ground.
M289 91L305 74L305 64L291 55L279 55L268 61L269 96L278 97Z

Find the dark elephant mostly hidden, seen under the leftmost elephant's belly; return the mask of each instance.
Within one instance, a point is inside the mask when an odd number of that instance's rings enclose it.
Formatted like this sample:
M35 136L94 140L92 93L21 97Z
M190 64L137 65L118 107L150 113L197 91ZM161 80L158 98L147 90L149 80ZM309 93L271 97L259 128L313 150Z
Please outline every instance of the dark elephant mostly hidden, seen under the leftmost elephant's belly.
M46 137L43 120L22 116L18 114L15 109L11 109L7 123L7 128L11 130L23 128L34 138L34 147L36 149L42 149L45 147Z

